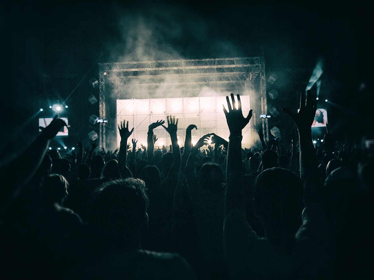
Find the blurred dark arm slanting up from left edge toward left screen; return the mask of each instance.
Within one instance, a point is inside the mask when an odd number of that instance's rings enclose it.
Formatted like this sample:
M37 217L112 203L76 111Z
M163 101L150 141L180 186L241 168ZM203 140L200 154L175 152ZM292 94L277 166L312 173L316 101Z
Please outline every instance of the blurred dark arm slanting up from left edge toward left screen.
M39 168L49 142L62 127L68 127L64 120L55 116L39 136L12 161L5 163L0 168L0 180L2 182L2 194L0 198L1 213L6 210L21 192L22 188Z

